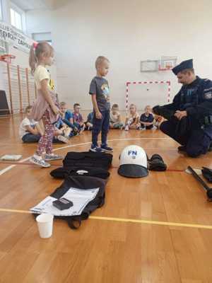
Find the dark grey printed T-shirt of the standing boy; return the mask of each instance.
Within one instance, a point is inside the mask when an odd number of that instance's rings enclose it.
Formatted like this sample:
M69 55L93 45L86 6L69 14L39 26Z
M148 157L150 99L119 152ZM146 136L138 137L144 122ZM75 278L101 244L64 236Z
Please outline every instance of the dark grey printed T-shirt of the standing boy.
M109 86L104 78L95 76L90 83L89 93L96 95L96 101L100 111L110 110Z

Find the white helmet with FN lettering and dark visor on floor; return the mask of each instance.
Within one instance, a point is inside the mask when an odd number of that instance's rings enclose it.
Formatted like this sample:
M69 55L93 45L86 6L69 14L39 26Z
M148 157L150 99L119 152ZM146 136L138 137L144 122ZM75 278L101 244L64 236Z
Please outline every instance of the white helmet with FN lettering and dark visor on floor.
M147 156L141 146L126 146L119 159L119 175L128 178L141 178L148 175Z

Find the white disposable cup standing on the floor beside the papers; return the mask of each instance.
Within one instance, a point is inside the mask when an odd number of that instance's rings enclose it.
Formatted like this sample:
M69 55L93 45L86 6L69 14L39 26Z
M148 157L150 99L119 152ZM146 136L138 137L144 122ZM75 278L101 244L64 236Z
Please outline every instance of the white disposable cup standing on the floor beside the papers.
M36 221L40 238L49 238L52 236L53 218L54 215L52 214L40 214L37 216Z

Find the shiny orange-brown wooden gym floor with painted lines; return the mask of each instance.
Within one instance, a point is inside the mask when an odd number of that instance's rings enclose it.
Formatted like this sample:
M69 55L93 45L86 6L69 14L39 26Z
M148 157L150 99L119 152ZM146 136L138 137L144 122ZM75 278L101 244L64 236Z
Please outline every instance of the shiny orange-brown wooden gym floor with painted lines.
M0 162L0 282L212 282L212 204L194 177L182 171L212 168L211 152L189 158L156 129L110 130L114 158L105 205L76 231L54 219L52 237L42 239L28 211L61 185L63 180L49 172L62 162L53 161L51 168L29 162L36 144L20 140L22 119L0 119L0 156L22 155L20 162ZM53 148L64 156L88 151L90 139L85 131ZM143 147L148 156L160 154L168 170L139 179L119 176L119 154L130 144Z

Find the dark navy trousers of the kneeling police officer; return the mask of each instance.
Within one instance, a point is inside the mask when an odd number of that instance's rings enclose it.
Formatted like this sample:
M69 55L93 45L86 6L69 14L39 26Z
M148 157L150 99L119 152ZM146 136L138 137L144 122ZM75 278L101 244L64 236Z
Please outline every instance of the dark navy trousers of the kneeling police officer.
M161 123L160 130L167 136L175 139L182 146L185 146L189 156L198 157L201 154L206 154L211 144L211 138L202 131L199 124L195 125L194 123L184 134L177 134L175 132L177 126L170 121Z

